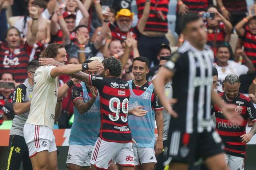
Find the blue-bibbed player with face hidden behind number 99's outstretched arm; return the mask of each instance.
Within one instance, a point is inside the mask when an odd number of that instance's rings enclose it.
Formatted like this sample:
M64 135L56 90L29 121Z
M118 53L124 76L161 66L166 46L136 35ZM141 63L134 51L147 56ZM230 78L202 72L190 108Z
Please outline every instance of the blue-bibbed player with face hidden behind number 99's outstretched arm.
M100 57L92 57L84 63L90 63ZM98 75L98 70L84 71L90 75ZM74 122L69 136L69 149L66 165L70 170L90 170L90 158L93 146L98 138L101 127L100 97L93 86L84 82L73 86L72 99L74 104Z

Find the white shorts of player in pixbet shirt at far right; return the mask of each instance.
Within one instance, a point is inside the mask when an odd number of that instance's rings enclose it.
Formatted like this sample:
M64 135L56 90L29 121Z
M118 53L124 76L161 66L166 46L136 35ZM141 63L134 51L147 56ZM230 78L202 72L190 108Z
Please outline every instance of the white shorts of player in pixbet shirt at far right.
M244 170L244 158L225 154L225 160L230 170Z

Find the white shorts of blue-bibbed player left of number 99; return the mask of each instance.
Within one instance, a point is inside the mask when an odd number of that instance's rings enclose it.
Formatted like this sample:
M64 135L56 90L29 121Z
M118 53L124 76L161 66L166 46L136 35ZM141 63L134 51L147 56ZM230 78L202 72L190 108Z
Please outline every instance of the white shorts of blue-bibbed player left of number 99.
M91 166L92 145L69 145L66 166L69 163L79 166Z

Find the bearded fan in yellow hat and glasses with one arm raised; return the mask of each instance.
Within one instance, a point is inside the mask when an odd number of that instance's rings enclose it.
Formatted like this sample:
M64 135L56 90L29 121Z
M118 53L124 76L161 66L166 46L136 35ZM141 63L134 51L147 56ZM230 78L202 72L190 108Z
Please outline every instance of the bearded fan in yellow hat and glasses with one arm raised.
M117 12L115 19L117 26L110 25L112 40L118 39L123 41L126 39L128 32L133 32L135 39L138 38L140 32L143 32L149 16L150 0L145 3L145 8L141 19L136 27L132 27L133 15L129 9L121 9Z

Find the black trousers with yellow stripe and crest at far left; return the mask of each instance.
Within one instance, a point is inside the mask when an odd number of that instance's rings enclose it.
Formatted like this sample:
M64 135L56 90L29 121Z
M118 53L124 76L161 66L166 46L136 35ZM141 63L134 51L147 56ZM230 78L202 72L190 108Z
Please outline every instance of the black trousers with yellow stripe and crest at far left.
M30 158L28 156L28 148L24 137L19 135L10 135L7 169L19 170L21 161L23 163L23 169L33 169Z

